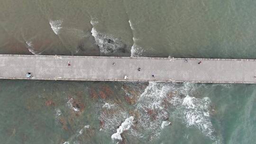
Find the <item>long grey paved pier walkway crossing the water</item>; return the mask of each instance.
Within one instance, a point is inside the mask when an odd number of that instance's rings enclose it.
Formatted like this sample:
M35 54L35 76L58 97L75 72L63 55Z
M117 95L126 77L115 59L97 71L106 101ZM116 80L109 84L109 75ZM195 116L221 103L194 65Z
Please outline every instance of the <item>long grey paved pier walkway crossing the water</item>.
M255 76L256 60L0 54L0 79L256 83Z

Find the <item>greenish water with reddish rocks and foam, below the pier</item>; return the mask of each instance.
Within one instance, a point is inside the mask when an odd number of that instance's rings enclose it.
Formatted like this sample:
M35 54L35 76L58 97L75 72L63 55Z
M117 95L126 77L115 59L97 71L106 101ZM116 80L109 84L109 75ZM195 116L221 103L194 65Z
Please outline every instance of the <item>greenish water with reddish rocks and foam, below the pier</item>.
M4 144L112 144L130 116L128 144L255 141L255 85L2 80L0 88Z

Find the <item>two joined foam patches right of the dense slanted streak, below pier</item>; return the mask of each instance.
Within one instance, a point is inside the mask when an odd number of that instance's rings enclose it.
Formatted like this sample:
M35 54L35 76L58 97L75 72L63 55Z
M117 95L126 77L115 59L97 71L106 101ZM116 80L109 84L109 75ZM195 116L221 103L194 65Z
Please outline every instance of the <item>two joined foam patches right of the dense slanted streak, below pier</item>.
M166 102L170 103L173 108L177 109L177 116L173 114L172 117L181 118L183 123L187 127L195 127L201 131L204 135L215 140L214 128L210 121L210 99L194 98L188 94L196 90L198 87L195 84L184 83L183 87L178 84L171 83L155 83L149 82L145 91L141 94L139 100L137 100L137 110L139 112L139 118L137 119L137 128L147 130L151 133L152 137L160 135L160 132L167 122L163 122L166 117L169 117L167 112ZM169 97L168 92L178 91L177 94ZM182 97L182 95L187 95ZM148 115L148 109L152 110L150 113L154 114L155 120L152 121L152 117ZM132 129L133 131L133 129ZM145 137L145 134L133 131L133 135ZM150 139L152 138L150 137Z

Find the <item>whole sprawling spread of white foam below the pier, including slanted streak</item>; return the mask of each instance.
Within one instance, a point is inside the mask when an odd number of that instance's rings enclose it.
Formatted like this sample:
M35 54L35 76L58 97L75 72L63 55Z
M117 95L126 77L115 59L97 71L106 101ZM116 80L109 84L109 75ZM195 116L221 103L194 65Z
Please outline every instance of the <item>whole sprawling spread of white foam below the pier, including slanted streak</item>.
M122 140L120 134L125 131L122 125L133 117L126 133L139 139L153 140L163 128L171 127L169 117L173 117L180 119L186 127L199 129L211 140L216 140L210 121L210 99L189 96L198 88L200 86L191 83L149 82L129 112L122 108L122 104L112 107L108 103L102 104L101 130L109 132L112 139Z

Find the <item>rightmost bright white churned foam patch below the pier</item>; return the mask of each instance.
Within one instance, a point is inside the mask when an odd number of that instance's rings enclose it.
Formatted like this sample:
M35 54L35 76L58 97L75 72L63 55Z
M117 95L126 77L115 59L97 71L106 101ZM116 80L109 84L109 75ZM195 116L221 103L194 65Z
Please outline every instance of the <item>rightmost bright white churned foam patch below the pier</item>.
M211 101L208 97L200 99L189 96L195 87L195 84L184 83L180 91L186 96L177 95L171 99L172 105L177 109L177 115L174 116L181 119L186 127L195 127L211 140L216 140L215 129L210 120Z

